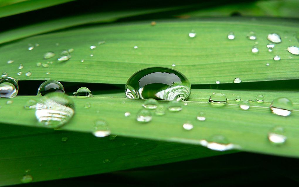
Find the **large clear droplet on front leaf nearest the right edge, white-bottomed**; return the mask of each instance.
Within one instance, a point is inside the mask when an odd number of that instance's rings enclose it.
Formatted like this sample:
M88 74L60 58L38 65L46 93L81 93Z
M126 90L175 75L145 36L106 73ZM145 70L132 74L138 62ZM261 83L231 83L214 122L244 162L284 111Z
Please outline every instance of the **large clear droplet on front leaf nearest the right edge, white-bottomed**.
M272 101L270 109L274 114L288 116L293 110L293 104L287 98L276 98Z

